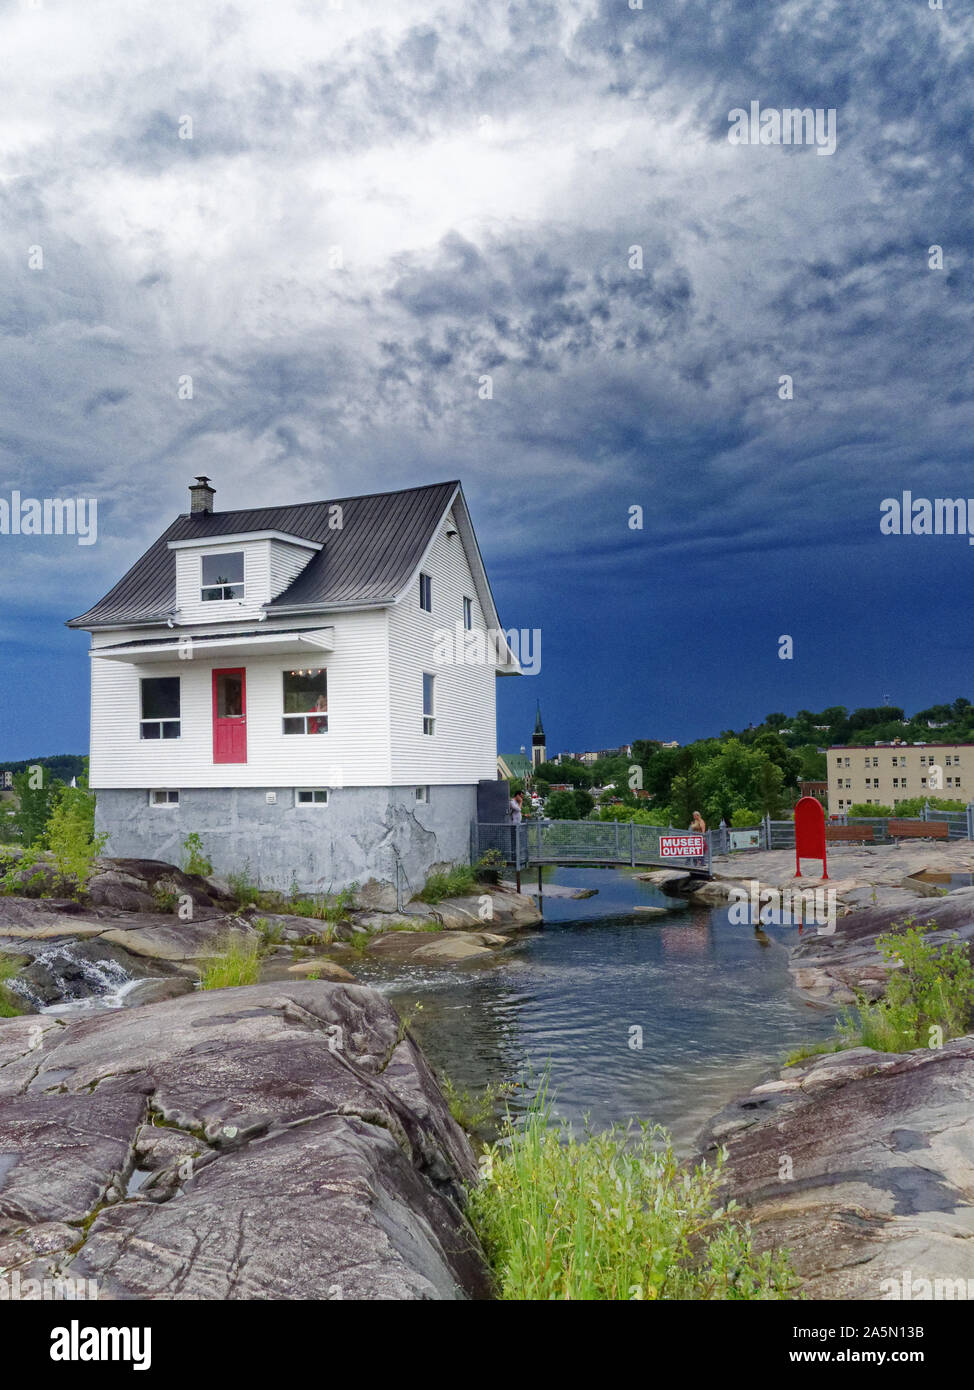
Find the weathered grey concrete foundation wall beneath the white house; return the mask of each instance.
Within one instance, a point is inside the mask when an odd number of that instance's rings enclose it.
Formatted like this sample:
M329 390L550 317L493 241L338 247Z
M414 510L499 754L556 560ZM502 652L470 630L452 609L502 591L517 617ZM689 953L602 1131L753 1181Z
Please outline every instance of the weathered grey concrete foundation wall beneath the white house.
M267 792L276 792L268 803ZM436 869L470 863L477 787L342 787L327 806L296 806L290 787L190 787L178 806L150 806L149 791L96 792L96 828L107 855L181 863L192 831L214 873L247 873L263 888L338 892L372 884L377 906L396 906L396 855L403 901Z

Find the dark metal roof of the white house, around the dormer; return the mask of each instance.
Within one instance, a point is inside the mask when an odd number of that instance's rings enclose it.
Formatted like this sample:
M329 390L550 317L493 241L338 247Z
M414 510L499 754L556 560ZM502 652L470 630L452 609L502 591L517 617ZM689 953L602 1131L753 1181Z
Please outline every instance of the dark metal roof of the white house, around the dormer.
M267 605L268 613L392 602L413 578L459 486L436 482L364 498L181 516L103 599L72 617L68 627L165 621L176 606L176 562L170 541L207 541L247 531L285 531L322 546ZM333 506L342 507L340 531L328 527Z

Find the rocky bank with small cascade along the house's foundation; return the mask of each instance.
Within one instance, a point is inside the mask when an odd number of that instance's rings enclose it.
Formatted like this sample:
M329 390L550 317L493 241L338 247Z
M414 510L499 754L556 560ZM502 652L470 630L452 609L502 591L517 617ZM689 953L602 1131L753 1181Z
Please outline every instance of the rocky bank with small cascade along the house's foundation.
M228 884L157 860L101 862L82 902L40 897L57 887L43 866L25 869L22 880L35 895L0 897L0 954L22 962L10 990L32 1009L110 994L132 980L143 983L119 995L124 1005L185 992L228 935L272 942L268 966L272 958L276 967L347 980L360 954L488 960L540 922L534 901L504 885L408 902L402 912L378 910L365 895L329 922L290 913L286 902L275 905L281 910L240 906Z

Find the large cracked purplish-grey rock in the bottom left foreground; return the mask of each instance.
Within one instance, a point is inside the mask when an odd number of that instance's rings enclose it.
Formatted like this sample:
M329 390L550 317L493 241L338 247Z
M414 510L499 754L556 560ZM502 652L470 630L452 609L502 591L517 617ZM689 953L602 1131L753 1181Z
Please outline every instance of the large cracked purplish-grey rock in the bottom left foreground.
M302 981L0 1022L0 1268L108 1298L489 1294L475 1163L382 995Z

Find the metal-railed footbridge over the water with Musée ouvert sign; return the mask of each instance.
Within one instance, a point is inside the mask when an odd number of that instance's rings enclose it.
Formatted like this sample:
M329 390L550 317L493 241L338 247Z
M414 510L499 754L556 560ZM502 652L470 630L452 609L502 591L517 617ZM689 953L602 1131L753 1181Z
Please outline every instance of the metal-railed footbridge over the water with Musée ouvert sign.
M638 826L618 820L478 821L474 827L474 862L496 849L520 874L543 865L616 865L653 869L686 869L710 878L711 834L703 837L703 853L679 853L686 830L672 826ZM677 852L674 852L677 851Z

